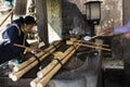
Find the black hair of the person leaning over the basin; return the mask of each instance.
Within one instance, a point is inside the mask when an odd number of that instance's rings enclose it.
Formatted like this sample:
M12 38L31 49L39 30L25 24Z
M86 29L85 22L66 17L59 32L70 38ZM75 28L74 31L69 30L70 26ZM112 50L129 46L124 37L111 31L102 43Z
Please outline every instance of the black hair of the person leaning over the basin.
M32 16L30 16L30 15L28 15L28 16L25 16L25 18L24 17L20 17L20 21L24 24L36 24L36 21L35 21L35 18L32 17Z

